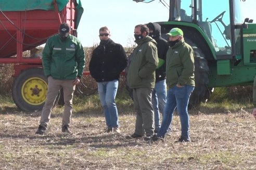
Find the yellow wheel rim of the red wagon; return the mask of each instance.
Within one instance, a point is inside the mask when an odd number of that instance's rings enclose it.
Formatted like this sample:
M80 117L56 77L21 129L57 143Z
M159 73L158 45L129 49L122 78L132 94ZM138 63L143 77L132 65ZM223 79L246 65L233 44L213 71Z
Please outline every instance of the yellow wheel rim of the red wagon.
M30 105L41 105L46 100L47 83L39 77L26 80L21 87L22 98Z

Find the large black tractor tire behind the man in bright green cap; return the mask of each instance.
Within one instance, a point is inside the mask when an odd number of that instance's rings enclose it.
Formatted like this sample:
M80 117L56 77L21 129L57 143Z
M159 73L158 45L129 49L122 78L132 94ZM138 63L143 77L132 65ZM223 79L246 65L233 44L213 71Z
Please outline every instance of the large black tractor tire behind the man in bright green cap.
M197 48L188 40L188 44L194 49L195 53L195 89L189 98L188 108L197 108L201 102L205 103L210 98L209 66L201 49Z

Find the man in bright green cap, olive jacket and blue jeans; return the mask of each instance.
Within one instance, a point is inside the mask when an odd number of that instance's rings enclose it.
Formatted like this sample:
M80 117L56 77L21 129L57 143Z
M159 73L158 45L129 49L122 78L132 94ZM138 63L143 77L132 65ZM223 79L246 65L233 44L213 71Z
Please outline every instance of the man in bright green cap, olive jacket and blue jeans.
M164 107L163 121L157 136L153 140L163 139L172 123L173 112L177 108L181 121L180 142L189 142L189 115L187 111L190 94L195 88L194 51L185 43L183 31L172 29L169 36L167 52L167 84L169 86L167 103Z

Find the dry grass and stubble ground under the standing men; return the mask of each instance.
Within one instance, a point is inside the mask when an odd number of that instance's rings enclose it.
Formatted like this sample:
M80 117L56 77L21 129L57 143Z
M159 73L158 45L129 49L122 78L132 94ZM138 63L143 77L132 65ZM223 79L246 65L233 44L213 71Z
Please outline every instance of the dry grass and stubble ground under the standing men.
M96 99L95 99L95 98ZM132 102L118 100L121 134L104 133L96 96L74 98L71 134L61 132L54 108L46 135L35 135L40 112L0 100L0 169L256 169L256 121L251 108L228 103L190 110L191 143L176 143L180 121L164 142L126 139L134 131ZM251 106L251 105L250 105Z

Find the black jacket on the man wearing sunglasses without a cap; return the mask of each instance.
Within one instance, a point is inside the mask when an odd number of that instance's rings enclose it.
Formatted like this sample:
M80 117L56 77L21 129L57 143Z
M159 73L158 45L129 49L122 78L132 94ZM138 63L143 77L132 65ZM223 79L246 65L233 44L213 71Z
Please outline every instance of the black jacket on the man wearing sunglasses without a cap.
M101 44L93 51L89 71L96 82L119 79L127 65L127 56L120 44L109 38L106 45Z

